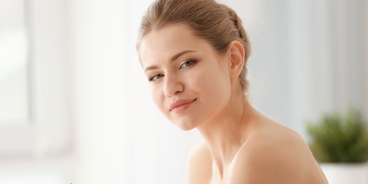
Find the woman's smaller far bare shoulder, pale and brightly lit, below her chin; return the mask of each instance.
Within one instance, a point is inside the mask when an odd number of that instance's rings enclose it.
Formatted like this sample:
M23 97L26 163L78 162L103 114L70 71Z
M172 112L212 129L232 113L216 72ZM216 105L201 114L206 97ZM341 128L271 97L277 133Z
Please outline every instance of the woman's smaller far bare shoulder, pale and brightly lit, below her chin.
M208 183L212 174L212 156L204 141L192 148L187 162L187 183Z

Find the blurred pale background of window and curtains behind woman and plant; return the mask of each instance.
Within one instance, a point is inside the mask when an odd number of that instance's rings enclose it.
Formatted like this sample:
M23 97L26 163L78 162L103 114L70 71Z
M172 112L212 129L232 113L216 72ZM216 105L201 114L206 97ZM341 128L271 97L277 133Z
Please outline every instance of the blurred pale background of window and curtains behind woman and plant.
M152 102L135 50L151 2L0 0L0 183L185 183L202 138ZM261 113L305 141L306 118L367 119L367 0L220 3L250 37Z

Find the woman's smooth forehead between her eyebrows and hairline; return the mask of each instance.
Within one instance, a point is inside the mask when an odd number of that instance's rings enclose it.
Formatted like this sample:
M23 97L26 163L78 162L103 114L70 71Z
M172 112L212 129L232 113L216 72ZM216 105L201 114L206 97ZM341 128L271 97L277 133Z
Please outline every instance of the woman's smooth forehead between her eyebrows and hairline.
M158 62L167 62L174 54L183 50L203 52L209 45L181 25L170 25L151 31L141 39L139 55L143 67Z

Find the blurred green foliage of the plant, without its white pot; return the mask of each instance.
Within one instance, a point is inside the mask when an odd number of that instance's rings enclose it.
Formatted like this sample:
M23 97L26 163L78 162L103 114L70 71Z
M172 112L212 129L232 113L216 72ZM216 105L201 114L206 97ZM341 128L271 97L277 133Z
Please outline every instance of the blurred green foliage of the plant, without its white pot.
M367 124L353 107L346 117L333 112L313 124L305 122L311 136L309 149L318 162L366 162L368 160Z

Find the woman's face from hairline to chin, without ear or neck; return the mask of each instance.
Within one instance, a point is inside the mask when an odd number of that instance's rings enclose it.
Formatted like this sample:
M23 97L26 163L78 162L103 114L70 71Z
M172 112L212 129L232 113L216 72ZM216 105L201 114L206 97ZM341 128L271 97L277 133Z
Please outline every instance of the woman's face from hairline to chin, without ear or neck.
M167 26L149 32L141 39L139 54L146 77L152 79L153 102L182 130L206 123L229 102L229 59L217 56L187 27ZM171 110L170 103L180 99L190 103Z

